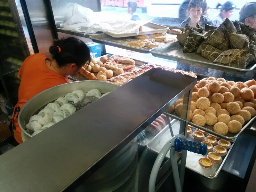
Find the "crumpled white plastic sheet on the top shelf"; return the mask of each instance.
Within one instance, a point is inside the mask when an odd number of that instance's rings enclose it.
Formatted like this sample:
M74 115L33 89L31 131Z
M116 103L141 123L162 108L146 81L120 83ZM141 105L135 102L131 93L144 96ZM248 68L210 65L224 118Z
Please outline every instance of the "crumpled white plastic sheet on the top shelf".
M85 34L111 32L115 34L136 33L139 28L151 20L132 21L116 19L115 12L93 12L79 4L69 4L66 8L66 22L62 23L63 30L84 32Z

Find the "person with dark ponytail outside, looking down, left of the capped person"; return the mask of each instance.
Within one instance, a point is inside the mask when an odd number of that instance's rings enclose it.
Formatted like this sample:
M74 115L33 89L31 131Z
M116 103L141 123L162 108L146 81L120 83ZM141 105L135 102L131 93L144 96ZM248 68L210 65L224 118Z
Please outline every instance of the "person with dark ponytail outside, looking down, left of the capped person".
M218 3L217 6L216 6L216 9L219 9L220 6L221 6L220 12L217 13L217 15L215 15L211 18L213 24L216 25L216 26L220 26L220 24L226 18L230 18L233 15L233 12L236 9L236 5L231 1L227 1L223 5Z

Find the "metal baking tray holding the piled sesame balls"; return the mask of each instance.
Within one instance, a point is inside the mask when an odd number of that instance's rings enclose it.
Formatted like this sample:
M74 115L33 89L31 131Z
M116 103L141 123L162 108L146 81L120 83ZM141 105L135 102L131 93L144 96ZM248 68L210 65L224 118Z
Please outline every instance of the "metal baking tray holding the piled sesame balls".
M182 118L176 116L176 114L173 115L173 114L166 113L166 112L165 112L165 114L168 114L169 116L171 116L171 117L173 117L173 118L175 118L175 119L178 119L179 121L185 121L184 119L182 119ZM231 133L231 132L228 132L226 135L221 135L220 133L214 132L214 131L213 131L213 126L210 126L210 125L206 125L206 124L205 124L204 127L201 127L201 126L196 125L196 124L194 124L194 123L192 123L192 122L190 122L190 121L188 121L188 124L191 125L191 126L193 126L193 127L198 128L198 129L201 129L201 130L203 130L203 131L206 131L206 132L208 132L208 133L211 133L212 135L216 135L216 136L218 136L218 137L220 137L220 138L222 138L222 139L225 139L225 140L232 140L232 139L236 139L236 138L238 137L238 135L240 135L241 132L244 131L244 129L246 129L247 127L249 127L249 126L255 121L255 119L256 119L256 116L254 116L249 122L247 122L246 124L244 124L243 127L242 127L242 129L241 129L241 131L239 131L238 133Z

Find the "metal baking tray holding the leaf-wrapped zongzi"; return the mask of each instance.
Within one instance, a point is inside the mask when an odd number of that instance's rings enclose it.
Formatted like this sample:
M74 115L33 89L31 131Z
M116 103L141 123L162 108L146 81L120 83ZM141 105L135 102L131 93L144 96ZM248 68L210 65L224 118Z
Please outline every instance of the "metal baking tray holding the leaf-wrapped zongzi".
M178 41L168 43L166 45L163 45L161 47L156 47L150 50L151 54L155 57L174 60L174 61L180 61L187 64L197 65L201 67L206 68L213 68L218 69L222 71L228 71L228 72L247 72L252 71L256 67L255 64L249 64L246 66L245 69L242 68L235 68L235 67L229 67L229 66L223 66L216 63L212 63L212 61L202 57L200 54L197 54L196 52L193 53L183 53L183 47L180 45Z

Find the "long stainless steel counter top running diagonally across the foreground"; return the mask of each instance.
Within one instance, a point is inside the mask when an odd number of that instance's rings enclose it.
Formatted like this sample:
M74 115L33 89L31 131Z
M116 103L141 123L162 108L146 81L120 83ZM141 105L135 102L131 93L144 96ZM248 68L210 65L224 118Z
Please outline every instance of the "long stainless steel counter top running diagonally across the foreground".
M1 155L0 191L55 192L83 182L193 84L193 77L147 71Z

